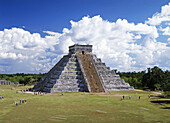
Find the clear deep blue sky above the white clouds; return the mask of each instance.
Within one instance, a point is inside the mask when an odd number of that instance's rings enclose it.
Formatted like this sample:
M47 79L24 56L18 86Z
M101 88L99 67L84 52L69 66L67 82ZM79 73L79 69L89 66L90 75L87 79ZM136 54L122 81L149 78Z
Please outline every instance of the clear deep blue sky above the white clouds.
M30 32L61 32L70 20L100 15L103 19L144 22L169 0L0 0L0 29L25 26Z

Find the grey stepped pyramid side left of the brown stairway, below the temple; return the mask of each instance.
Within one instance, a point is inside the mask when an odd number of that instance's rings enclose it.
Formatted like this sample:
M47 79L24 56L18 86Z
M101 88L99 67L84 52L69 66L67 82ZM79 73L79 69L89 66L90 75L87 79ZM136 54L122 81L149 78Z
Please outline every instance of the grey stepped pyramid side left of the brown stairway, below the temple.
M76 56L64 56L33 89L51 93L85 91Z

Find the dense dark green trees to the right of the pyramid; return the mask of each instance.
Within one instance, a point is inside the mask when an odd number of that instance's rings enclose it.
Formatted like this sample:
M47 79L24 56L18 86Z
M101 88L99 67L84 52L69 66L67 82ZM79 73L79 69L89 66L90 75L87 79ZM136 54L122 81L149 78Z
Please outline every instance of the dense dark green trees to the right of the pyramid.
M118 72L118 74L135 88L170 91L170 71L163 71L157 66L148 68L147 72Z

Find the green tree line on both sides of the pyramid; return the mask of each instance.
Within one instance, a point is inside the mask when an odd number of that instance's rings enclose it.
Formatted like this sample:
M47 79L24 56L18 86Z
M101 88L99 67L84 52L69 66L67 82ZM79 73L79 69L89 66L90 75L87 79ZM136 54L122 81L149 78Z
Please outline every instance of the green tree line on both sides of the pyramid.
M35 84L40 81L46 73L39 74L0 74L0 80L7 80L19 84ZM137 89L170 91L170 71L163 71L155 66L147 71L140 72L117 72L125 82Z

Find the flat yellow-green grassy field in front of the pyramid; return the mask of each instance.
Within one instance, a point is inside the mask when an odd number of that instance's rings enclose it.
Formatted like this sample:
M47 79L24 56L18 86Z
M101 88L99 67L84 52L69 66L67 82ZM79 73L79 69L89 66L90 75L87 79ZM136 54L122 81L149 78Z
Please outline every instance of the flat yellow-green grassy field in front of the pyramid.
M79 92L64 93L63 96L61 93L16 93L24 88L28 87L0 86L0 96L4 96L0 99L0 123L170 123L170 104L151 103L159 99L148 99L150 92ZM122 95L125 100L121 101ZM129 95L131 99L128 99ZM27 100L27 104L14 104L22 99Z

